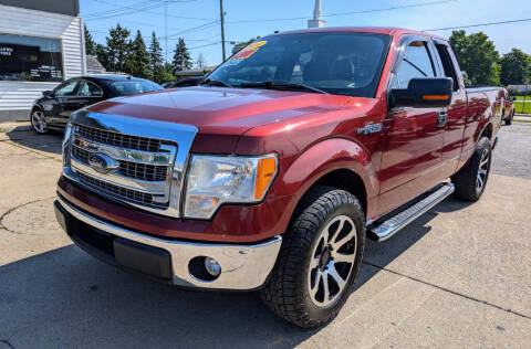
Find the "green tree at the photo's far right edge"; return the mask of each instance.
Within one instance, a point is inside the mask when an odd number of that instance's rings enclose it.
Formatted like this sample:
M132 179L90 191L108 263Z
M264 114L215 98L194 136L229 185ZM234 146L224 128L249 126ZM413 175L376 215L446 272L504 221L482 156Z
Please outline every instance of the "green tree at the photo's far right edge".
M531 70L531 56L524 52L512 49L501 60L500 82L502 85L522 85L529 77Z

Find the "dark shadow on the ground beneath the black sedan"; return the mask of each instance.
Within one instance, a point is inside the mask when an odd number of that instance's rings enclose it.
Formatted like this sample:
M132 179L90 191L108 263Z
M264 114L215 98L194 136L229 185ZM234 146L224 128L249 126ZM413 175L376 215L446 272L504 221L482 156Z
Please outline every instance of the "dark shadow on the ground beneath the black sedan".
M61 155L61 144L63 140L62 130L50 130L45 135L38 135L33 130L17 127L6 135L9 137L9 140L15 145L51 155Z

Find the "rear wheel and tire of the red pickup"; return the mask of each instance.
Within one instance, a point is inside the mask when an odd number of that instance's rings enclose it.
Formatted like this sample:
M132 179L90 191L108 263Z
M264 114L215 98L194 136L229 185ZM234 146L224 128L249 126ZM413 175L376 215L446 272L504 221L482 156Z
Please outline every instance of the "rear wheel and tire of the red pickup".
M479 140L468 165L451 177L456 195L467 201L478 201L485 191L490 173L492 145L487 137Z

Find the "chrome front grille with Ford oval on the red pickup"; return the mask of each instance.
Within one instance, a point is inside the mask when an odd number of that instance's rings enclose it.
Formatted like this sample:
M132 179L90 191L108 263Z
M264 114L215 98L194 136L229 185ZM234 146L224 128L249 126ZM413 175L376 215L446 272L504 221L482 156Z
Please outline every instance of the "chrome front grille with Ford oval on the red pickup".
M194 126L79 110L63 141L63 173L86 190L180 216Z

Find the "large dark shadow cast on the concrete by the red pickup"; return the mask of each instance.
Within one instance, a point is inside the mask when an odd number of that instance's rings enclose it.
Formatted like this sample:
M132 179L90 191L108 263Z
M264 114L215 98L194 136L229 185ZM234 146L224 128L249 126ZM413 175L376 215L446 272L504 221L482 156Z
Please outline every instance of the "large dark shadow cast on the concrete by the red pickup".
M392 239L368 242L365 261L378 267L364 264L356 288L452 205L447 200ZM0 340L14 348L291 348L320 331L277 318L257 293L178 289L107 266L73 245L0 267Z

